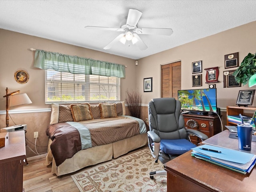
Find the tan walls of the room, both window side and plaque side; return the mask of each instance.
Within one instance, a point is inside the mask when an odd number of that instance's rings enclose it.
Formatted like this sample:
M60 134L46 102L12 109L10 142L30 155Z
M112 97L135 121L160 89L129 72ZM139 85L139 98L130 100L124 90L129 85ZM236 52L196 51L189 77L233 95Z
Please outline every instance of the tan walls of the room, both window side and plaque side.
M248 54L255 53L256 22L239 26L164 52L142 58L135 66L132 59L114 56L103 52L89 50L78 46L72 46L52 40L46 40L34 36L24 35L8 30L0 29L0 95L5 95L6 87L10 91L21 90L26 92L33 104L21 106L18 109L44 109L50 108L44 104L44 70L33 68L34 52L29 48L37 48L46 51L60 52L63 54L77 55L86 58L104 60L128 66L126 68L126 78L121 80L121 100L125 99L125 91L138 88L142 93L142 119L147 118L147 104L152 98L160 97L160 66L178 60L182 62L182 89L192 87L192 62L202 60L202 68L219 67L220 82L215 83L217 88L218 107L223 110L226 106L235 106L239 90L254 89L248 85L236 88L223 88L224 55L239 52L239 63ZM175 30L174 30L175 32ZM228 70L233 70L230 68ZM17 70L26 70L30 75L30 80L26 84L18 84L14 80L14 73ZM137 76L134 76L137 74ZM205 83L206 71L202 72L202 86L194 88L208 88ZM153 77L153 92L143 92L143 79ZM5 127L5 98L0 97L0 128ZM253 106L256 106L254 100ZM127 110L126 110L127 111ZM225 114L223 114L225 116ZM16 124L28 124L26 137L34 142L33 132L39 131L38 152L46 152L47 137L45 129L50 122L50 112L36 112L12 114L12 119ZM224 118L225 119L225 118ZM223 120L223 118L222 118ZM225 124L225 120L223 122ZM14 125L10 120L10 126ZM28 142L29 143L29 142ZM33 146L31 145L33 148ZM34 150L34 148L33 148ZM27 156L34 154L27 148Z

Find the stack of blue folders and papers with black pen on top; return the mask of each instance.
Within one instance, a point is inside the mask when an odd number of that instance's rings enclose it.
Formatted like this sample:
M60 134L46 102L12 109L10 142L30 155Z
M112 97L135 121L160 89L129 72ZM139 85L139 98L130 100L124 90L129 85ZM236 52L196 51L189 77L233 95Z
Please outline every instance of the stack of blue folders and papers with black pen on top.
M256 155L212 145L192 148L191 155L207 162L246 174L256 163Z

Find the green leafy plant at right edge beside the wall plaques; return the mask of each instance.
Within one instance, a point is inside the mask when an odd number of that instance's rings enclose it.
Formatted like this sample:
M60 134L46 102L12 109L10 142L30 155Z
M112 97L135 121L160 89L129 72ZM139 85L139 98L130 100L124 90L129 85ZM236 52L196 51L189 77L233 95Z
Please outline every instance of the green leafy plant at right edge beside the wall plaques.
M249 53L234 71L233 76L237 83L246 85L254 74L256 74L256 54Z

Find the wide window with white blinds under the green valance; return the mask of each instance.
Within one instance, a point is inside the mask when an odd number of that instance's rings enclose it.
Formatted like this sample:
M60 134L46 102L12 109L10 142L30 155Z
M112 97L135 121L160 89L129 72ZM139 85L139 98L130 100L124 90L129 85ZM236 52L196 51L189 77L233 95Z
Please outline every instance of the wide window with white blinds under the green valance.
M45 102L103 102L120 100L120 78L45 70Z

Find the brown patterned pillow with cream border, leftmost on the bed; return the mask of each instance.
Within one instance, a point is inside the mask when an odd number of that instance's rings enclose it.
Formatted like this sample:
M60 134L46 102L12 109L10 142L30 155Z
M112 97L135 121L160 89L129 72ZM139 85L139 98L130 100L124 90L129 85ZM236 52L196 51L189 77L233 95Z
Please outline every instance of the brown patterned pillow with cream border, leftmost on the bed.
M50 124L56 124L60 122L73 121L72 112L70 106L54 104L52 103L52 113Z

